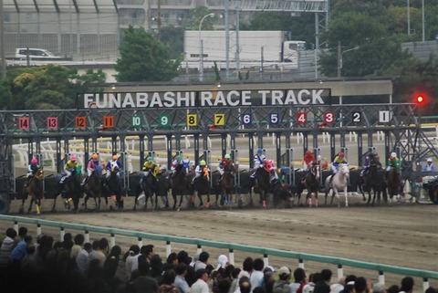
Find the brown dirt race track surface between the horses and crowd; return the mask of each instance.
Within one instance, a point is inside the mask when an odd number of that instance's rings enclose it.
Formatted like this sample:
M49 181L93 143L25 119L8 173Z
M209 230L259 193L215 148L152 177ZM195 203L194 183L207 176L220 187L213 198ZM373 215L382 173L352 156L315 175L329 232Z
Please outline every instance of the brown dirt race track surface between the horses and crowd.
M137 211L131 212L132 198L125 201L126 209L121 212L101 211L80 212L72 214L58 205L56 214L48 213L52 200L43 204L43 214L30 215L41 219L68 223L99 225L148 233L178 235L207 240L232 242L250 246L264 246L318 254L339 256L350 259L412 267L438 271L438 205L393 203L368 207L358 200L350 199L349 207L320 205L312 207L268 208L261 209L184 209L176 211ZM356 200L356 202L355 202ZM320 200L321 202L323 200ZM336 201L336 199L335 199ZM11 206L11 215L18 215L18 201ZM48 203L47 203L48 202ZM58 202L61 202L58 198ZM172 199L171 199L172 203ZM46 206L47 204L47 206ZM28 206L28 203L26 203ZM93 204L91 205L93 206ZM0 222L5 230L7 223ZM36 228L29 227L35 234ZM58 230L42 227L43 233L58 237ZM66 231L73 235L78 231ZM110 238L110 235L105 235ZM91 238L99 235L90 234ZM117 236L116 236L117 237ZM123 250L131 244L137 244L135 238L117 238ZM144 244L150 243L148 239ZM165 244L154 243L157 252L165 259ZM172 244L172 251L185 249L191 256L196 254L196 247ZM203 247L210 252L210 262L215 266L217 256L228 254L227 251ZM235 264L241 266L247 253L235 251ZM263 257L263 256L253 256ZM281 267L287 265L294 269L297 260L269 258L269 265ZM336 280L337 267L305 261L308 273L328 267ZM378 272L370 272L352 267L344 267L344 275L365 276L371 282L378 281ZM400 275L385 274L386 284L400 284ZM437 288L438 281L430 279L430 285ZM415 278L416 292L422 290L422 279Z

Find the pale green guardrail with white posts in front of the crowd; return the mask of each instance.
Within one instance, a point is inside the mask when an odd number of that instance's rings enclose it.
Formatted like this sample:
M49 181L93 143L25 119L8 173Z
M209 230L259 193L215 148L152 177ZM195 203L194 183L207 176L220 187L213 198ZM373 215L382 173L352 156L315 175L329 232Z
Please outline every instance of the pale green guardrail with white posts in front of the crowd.
M36 225L36 235L41 234L41 225L58 227L60 229L60 239L64 238L66 228L71 230L83 231L85 234L86 242L89 242L89 232L107 234L110 235L110 246L116 245L116 235L136 237L138 239L139 246L143 245L142 239L162 241L166 243L166 256L172 252L172 246L171 246L172 242L197 246L198 253L202 251L203 246L223 248L223 249L228 249L229 252L228 258L230 263L233 265L235 263L234 253L236 250L236 251L243 251L243 252L263 255L266 266L268 264L268 256L279 256L285 258L298 259L299 267L304 267L304 260L337 265L338 277L343 277L343 269L342 269L343 266L373 270L379 272L379 282L381 282L382 284L385 284L385 277L384 277L385 272L404 275L404 276L411 276L411 277L422 277L423 291L429 288L428 280L430 278L438 279L438 272L429 271L429 270L422 270L422 269L409 268L409 267L396 267L396 266L389 266L389 265L383 265L377 263L364 262L359 260L352 260L343 257L320 256L320 255L313 255L313 254L300 253L294 251L271 249L271 248L265 248L260 246L245 246L245 245L239 245L234 243L203 240L199 238L151 234L151 233L144 233L139 231L122 230L118 228L101 227L96 225L79 225L79 224L72 224L66 222L48 221L43 219L26 218L26 217L11 216L11 215L0 215L0 221L14 222L14 228L16 229L16 231L18 231L18 223Z

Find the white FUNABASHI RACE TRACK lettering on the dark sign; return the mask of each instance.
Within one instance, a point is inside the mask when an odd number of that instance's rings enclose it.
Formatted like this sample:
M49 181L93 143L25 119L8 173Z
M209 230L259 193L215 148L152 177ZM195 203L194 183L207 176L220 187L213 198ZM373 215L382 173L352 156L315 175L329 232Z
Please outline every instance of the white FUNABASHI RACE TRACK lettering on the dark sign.
M81 109L324 105L329 89L84 93Z

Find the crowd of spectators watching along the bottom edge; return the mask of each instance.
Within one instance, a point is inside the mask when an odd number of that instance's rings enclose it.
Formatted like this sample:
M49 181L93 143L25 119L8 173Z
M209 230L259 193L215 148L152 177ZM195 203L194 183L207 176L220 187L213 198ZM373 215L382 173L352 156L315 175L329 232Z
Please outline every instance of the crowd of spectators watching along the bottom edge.
M2 292L413 293L415 285L412 277L388 288L355 275L334 281L330 269L311 274L301 267L276 270L263 258L249 256L239 267L225 255L211 261L206 251L191 257L181 250L162 259L153 245L132 245L123 253L105 237L92 243L69 233L63 241L50 235L34 239L24 226L18 232L7 228L1 243ZM425 293L437 291L431 287Z

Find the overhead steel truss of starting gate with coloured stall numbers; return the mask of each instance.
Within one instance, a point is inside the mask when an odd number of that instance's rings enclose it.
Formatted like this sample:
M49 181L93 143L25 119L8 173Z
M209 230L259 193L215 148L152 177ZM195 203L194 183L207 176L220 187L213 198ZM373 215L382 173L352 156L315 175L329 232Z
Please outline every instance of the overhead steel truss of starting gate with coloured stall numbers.
M303 113L307 113L305 122L299 120ZM390 152L399 152L402 168L412 170L412 165L426 156L432 154L438 157L437 150L423 133L415 113L416 106L413 104L0 111L0 193L13 192L12 145L17 140L27 141L29 160L40 154L41 141L55 141L57 172L60 172L68 158L68 143L73 139L84 140L84 158L88 162L89 153L98 151L99 138L111 138L113 153L123 153L126 151L125 138L137 136L142 165L144 156L153 152L154 137L165 135L168 138L166 149L170 165L172 156L181 150L184 135L193 135L197 163L201 157L208 157L210 136L221 136L224 155L227 152L227 136L231 136L231 150L228 152L235 154L236 136L245 134L249 158L252 158L256 148L263 148L263 138L269 133L276 136L277 165L286 165L292 160L290 152L287 152L292 134L302 133L303 152L306 152L309 149L309 136L312 137L310 149L318 149L318 136L323 132L328 133L333 157L339 146L345 147L345 137L350 131L358 135L358 156L368 152L373 145L372 134L381 131L385 137L386 157ZM188 126L188 115L196 115L198 123ZM224 125L216 125L218 123L214 115L224 115ZM85 119L84 125L78 125L78 117ZM103 127L107 122L106 117L113 118L110 128ZM141 123L133 123L133 117ZM163 123L163 117L166 117L166 123ZM57 119L57 127L49 129L47 121L54 118ZM23 121L29 124L20 125ZM365 146L362 140L364 134L368 134ZM335 141L335 136L340 138L339 143ZM281 140L285 140L285 143L281 143ZM120 150L117 150L119 141ZM282 145L286 145L285 150L281 149ZM360 159L358 162L361 162Z

